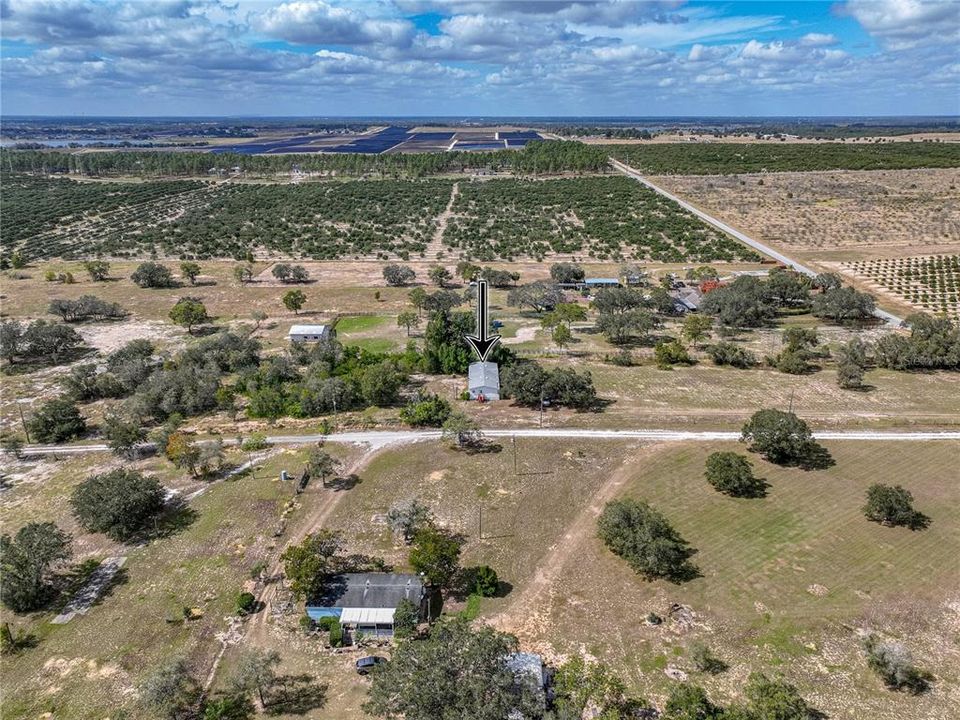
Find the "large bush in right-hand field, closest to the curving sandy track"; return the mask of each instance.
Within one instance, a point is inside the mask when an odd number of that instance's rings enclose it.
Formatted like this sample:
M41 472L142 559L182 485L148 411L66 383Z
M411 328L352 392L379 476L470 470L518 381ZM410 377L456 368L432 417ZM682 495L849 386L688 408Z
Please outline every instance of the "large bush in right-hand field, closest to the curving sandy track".
M696 573L696 552L670 522L645 502L613 500L598 521L604 544L647 579L689 579Z

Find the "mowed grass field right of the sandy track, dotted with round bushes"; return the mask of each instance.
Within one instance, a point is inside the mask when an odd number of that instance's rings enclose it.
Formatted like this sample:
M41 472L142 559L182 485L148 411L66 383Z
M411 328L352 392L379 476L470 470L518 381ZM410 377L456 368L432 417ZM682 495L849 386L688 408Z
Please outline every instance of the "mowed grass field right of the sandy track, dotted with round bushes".
M836 466L805 473L753 458L770 483L761 500L716 493L703 479L713 450L733 444L658 445L628 458L622 495L650 502L699 552L702 577L684 585L645 582L594 536L571 544L533 609L501 625L548 654L603 658L649 697L662 699L669 664L692 672L685 658L695 639L731 663L719 677L693 672L720 698L736 697L750 670L783 672L831 718L947 718L960 693L953 646L960 622L960 489L944 475L956 444L829 446ZM741 450L742 451L742 450ZM902 483L932 518L923 532L884 528L860 511L874 482ZM672 603L693 613L692 625L668 619ZM913 698L890 693L866 669L855 630L902 639L938 677Z

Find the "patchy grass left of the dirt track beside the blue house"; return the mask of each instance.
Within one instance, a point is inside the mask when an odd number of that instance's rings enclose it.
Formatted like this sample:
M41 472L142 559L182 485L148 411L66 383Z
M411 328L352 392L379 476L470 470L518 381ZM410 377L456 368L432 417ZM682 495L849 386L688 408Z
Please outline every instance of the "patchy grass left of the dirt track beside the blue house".
M349 458L351 451L333 450ZM5 718L37 718L45 712L67 720L143 717L134 708L134 688L158 663L184 656L201 679L219 652L222 633L230 631L237 593L249 583L250 568L274 553L273 531L289 485L278 481L281 469L295 470L303 453L274 451L252 473L209 486L190 500L195 513L182 531L144 546L121 546L90 535L70 517L72 487L93 472L120 464L109 455L45 462L13 479L0 499L4 532L30 521L52 520L74 535L75 560L124 554L122 580L85 616L51 625L56 613L2 619L34 634L38 647L4 662ZM139 463L160 474L165 485L189 495L204 484L173 470L168 463ZM295 522L314 494L310 487L289 516ZM199 607L203 617L184 621L184 607Z

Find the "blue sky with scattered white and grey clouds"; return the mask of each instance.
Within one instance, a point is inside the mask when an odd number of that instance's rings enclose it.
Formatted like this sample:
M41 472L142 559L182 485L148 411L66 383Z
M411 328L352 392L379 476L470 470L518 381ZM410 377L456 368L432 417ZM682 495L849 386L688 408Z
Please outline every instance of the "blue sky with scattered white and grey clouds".
M4 115L960 114L960 0L0 0Z

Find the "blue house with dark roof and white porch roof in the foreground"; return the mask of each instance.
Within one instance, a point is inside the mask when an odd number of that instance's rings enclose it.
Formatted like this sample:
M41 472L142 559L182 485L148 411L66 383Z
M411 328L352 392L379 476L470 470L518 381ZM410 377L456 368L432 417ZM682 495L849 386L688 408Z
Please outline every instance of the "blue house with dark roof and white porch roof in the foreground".
M393 614L403 600L417 606L420 618L429 611L427 592L419 575L401 573L343 573L327 583L324 594L306 612L313 620L335 617L348 637L392 637Z

